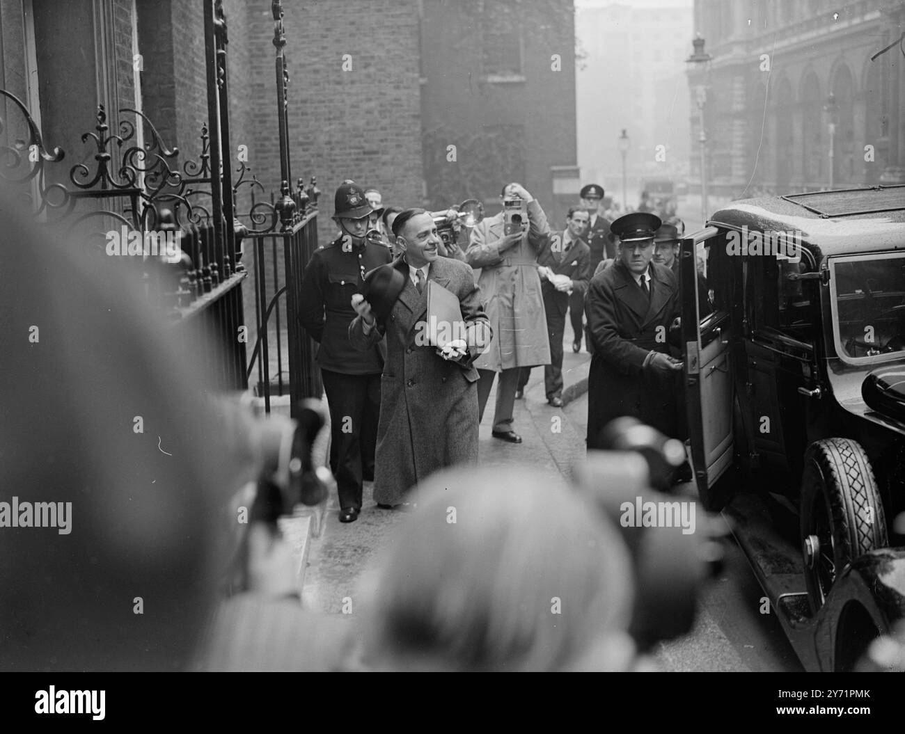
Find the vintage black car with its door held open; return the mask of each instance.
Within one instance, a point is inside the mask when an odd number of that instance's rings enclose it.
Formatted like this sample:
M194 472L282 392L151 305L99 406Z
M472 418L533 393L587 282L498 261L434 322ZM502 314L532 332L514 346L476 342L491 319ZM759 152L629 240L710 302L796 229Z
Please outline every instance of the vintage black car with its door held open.
M700 500L805 668L853 670L905 616L905 186L732 202L681 292Z

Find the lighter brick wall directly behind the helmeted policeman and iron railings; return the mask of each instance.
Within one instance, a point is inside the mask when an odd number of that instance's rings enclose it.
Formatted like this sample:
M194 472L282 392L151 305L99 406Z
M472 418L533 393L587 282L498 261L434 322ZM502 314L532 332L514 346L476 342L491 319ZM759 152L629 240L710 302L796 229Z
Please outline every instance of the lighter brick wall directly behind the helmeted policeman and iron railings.
M317 175L319 239L334 231L333 192L345 178L375 186L384 203L422 202L418 12L415 0L342 5L284 2L292 176ZM271 43L272 16L249 5L255 49ZM268 188L279 185L279 134L271 52L252 56L257 104L253 153ZM349 54L351 71L343 71ZM277 165L273 165L276 163Z

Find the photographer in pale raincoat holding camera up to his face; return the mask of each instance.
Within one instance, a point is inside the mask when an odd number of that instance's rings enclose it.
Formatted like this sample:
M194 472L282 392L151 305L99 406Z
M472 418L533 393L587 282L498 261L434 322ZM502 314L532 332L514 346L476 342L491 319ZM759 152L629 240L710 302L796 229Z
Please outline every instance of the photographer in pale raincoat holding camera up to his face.
M528 202L529 227L504 235L503 212L481 221L472 230L465 262L481 268L478 285L486 299L493 341L475 362L481 372L478 400L481 419L497 372L497 404L493 416L493 438L520 444L512 430L512 409L522 367L550 363L547 315L538 276L538 252L547 243L550 228L538 201L520 184L503 187L501 199Z

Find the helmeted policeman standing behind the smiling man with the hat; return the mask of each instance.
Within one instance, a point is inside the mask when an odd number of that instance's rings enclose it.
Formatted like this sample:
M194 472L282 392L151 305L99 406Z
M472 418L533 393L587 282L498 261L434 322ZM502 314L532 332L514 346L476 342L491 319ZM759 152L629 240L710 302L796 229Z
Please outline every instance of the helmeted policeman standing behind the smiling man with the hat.
M299 321L320 344L318 362L330 410L330 468L336 475L339 522L354 522L361 510L362 480L374 479L380 373L384 346L359 352L348 341L356 317L352 295L365 273L388 263L390 250L365 239L372 208L360 186L339 186L333 221L339 236L317 249L305 268Z

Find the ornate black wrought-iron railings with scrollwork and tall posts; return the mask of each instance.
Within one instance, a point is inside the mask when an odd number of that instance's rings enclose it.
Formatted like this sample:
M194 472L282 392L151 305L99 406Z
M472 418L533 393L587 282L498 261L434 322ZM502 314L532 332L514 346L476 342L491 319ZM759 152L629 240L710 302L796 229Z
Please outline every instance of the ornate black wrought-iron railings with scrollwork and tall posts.
M21 99L0 89L14 113L21 114L27 139L5 146L0 178L17 184L22 201L34 216L48 223L66 222L75 236L92 249L106 249L105 232L120 230L123 239L138 238L146 249L142 276L150 303L172 319L176 340L186 350L200 351L205 364L205 387L245 389L257 368L257 392L271 409L271 353L275 355L277 382L284 391L283 362L288 363L291 413L300 398L319 397L319 371L313 344L297 325L295 314L305 263L317 247L317 199L312 177L308 189L299 179L290 192L289 72L284 54L282 5L273 0L273 46L276 49L276 101L279 110L281 193L276 202L255 201L263 186L242 163L235 172L228 164L232 150L229 129L227 76L227 24L222 0L205 0L205 73L208 124L200 134L200 153L181 166L179 151L169 148L151 118L133 108L120 108L119 128L110 130L108 113L99 105L93 131L81 136L94 146L91 165L71 166L68 175L49 175L65 152L45 145L41 130ZM7 108L10 104L7 104ZM4 120L0 119L0 134ZM143 138L143 139L142 139ZM36 155L35 155L36 154ZM114 161L119 164L114 164ZM236 174L233 181L233 173ZM242 186L252 191L248 212L236 212ZM177 254L147 254L165 233L179 235ZM257 335L251 359L246 353L242 283L248 276L243 264L243 240L252 244ZM129 240L131 241L131 240ZM279 249L282 249L279 267ZM265 268L268 255L272 276ZM282 272L281 272L282 270ZM284 301L286 333L280 323ZM274 317L275 314L275 317ZM268 330L276 321L276 339ZM245 336L245 338L243 338ZM274 343L275 342L275 343ZM206 348L205 344L211 344Z

